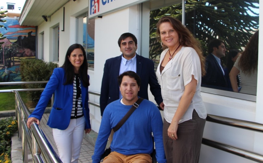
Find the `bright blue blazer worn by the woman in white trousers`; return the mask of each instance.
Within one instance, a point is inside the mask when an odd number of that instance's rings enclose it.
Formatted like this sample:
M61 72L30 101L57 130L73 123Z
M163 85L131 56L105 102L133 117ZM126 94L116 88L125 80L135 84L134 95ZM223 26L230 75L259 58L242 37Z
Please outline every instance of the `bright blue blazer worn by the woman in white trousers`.
M89 76L88 76L89 78ZM68 128L71 111L73 106L73 83L64 85L65 71L64 68L55 68L44 91L42 92L39 102L29 117L35 117L41 120L48 101L55 92L54 104L51 109L47 125L51 128L64 130ZM88 108L88 87L84 87L81 81L81 97L83 104L83 113L86 120L85 129L91 128Z

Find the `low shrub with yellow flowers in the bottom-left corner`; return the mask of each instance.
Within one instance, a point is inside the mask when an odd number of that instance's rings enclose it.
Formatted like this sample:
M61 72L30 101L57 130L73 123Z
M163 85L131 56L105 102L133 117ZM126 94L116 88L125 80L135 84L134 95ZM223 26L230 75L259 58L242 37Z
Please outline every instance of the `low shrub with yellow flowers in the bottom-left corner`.
M0 120L0 162L11 163L11 137L17 128L14 118Z

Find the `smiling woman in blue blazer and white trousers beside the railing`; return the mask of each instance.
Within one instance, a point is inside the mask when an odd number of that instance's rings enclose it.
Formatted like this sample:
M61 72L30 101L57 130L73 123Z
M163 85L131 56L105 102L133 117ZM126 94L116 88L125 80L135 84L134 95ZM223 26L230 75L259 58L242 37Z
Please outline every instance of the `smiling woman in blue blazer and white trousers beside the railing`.
M47 125L53 128L53 137L63 163L78 162L85 133L91 131L88 108L88 64L84 48L73 44L68 48L62 67L55 68L40 100L27 120L39 124L53 93L54 105Z

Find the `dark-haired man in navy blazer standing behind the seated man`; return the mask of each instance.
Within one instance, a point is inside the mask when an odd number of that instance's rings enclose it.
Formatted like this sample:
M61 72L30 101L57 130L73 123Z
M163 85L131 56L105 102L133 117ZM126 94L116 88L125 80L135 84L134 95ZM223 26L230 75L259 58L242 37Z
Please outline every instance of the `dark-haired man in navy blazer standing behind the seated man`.
M137 39L131 33L122 34L118 44L122 54L107 59L104 65L100 96L101 116L109 103L121 98L117 77L125 71L134 71L140 76L142 83L138 96L149 99L149 84L154 100L163 109L161 87L156 78L153 61L136 54Z

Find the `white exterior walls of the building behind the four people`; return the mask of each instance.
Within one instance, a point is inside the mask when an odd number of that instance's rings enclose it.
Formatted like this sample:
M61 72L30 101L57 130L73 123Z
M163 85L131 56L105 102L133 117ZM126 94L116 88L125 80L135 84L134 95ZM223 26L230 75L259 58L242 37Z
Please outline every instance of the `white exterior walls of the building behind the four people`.
M51 15L50 22L43 22L38 27L38 33L44 32L44 60L51 61L52 52L52 28L60 25L60 61L61 66L67 48L76 43L76 17L88 11L88 0L69 1L65 6L65 26L63 28L63 7ZM263 4L260 4L260 10L263 11ZM261 12L260 12L261 13ZM100 92L103 68L106 59L121 55L117 40L122 33L133 33L140 41L140 6L135 5L110 14L103 15L102 18L95 18L95 58L94 70L89 70L90 86L89 90ZM260 27L262 26L263 17L260 16ZM259 38L259 51L263 51L263 35ZM138 46L140 42L138 42ZM139 48L141 48L139 46ZM137 51L139 53L139 50ZM53 56L53 55L52 55ZM263 57L259 54L258 63L263 63ZM263 70L262 64L258 65L259 72ZM263 82L262 73L258 74L258 83ZM257 103L246 100L239 100L218 95L202 93L203 101L207 108L208 114L226 116L241 120L249 120L263 124L263 86L257 87ZM150 95L151 93L149 93ZM99 97L89 96L90 101L99 104ZM153 97L150 96L150 100ZM90 115L92 129L98 132L101 115L100 108L90 105ZM248 149L257 153L263 153L262 133L229 127L221 124L207 122L203 137L218 141L221 143L233 145L239 148ZM224 151L202 145L200 161L201 163L253 163L243 157L239 157Z

